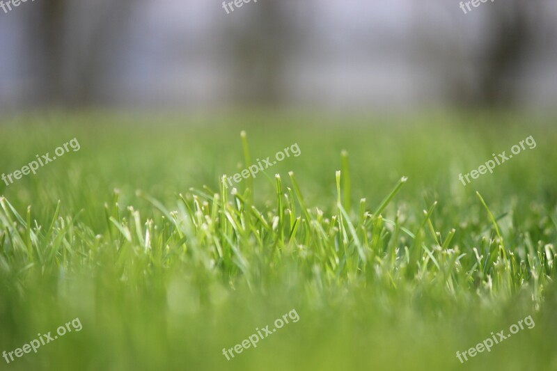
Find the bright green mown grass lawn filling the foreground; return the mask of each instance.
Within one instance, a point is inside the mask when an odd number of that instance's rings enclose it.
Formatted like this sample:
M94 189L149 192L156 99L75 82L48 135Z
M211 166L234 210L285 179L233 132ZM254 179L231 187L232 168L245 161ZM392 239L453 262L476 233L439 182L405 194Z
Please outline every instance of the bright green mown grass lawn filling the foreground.
M557 370L553 122L5 118L1 173L80 149L0 182L0 352L82 329L0 370ZM535 148L458 180L528 136ZM299 157L223 189L293 143ZM532 328L457 358L527 316Z

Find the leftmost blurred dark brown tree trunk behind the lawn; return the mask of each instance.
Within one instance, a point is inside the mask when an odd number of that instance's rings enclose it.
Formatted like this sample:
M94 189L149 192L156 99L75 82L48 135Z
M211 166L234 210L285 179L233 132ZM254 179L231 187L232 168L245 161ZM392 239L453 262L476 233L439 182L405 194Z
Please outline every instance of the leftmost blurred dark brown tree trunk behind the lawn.
M88 106L102 100L115 39L130 19L133 0L43 0L30 24L30 47L40 76L37 99L55 106Z

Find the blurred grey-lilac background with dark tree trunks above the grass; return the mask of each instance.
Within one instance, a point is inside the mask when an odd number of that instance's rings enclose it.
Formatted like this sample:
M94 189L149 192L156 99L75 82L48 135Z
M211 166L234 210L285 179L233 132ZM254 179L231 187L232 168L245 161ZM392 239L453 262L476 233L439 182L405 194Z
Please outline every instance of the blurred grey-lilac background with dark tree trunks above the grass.
M0 114L544 110L557 2L38 0L0 10Z

